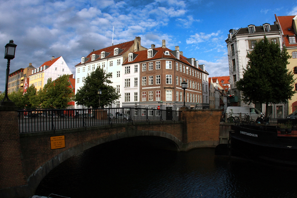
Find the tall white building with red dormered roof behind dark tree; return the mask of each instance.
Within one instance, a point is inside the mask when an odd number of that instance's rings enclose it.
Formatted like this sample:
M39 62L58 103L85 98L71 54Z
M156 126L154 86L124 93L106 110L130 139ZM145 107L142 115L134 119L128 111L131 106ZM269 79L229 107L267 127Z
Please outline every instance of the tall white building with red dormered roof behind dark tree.
M88 56L82 57L81 62L75 66L75 94L83 86L87 74L94 71L97 67L101 67L106 73L112 74L110 80L113 83L111 85L121 94L119 100L115 104L111 104L111 107L122 107L122 100L124 99L122 92L124 87L123 75L125 72L122 68L122 63L128 58L129 53L145 49L140 45L140 37L135 37L133 41L120 43L96 51L93 50ZM76 108L82 108L81 105L75 106Z

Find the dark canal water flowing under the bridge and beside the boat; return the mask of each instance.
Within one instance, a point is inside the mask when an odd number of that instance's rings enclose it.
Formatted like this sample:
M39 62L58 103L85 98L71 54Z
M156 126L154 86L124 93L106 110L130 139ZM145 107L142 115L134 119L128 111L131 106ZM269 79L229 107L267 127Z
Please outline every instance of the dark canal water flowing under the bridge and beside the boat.
M176 152L113 141L53 169L35 194L50 193L71 198L296 198L297 172L217 159L214 148Z

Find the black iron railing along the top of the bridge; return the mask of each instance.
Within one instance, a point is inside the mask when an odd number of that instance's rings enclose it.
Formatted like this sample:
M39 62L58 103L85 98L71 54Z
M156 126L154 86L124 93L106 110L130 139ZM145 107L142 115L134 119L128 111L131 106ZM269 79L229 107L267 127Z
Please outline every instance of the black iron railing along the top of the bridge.
M179 111L144 108L18 110L20 133L126 122L178 121Z

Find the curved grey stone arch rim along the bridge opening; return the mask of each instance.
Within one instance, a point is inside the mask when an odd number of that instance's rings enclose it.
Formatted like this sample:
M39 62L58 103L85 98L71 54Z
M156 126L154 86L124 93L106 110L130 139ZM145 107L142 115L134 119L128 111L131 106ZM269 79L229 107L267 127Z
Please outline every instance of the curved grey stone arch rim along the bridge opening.
M83 142L81 144L75 145L67 150L62 151L61 153L54 156L52 159L46 161L43 165L41 165L37 170L35 170L28 178L28 188L29 191L34 193L41 182L41 180L51 171L53 168L61 164L63 161L69 159L72 156L75 156L89 148L94 146L111 142L115 140L120 140L124 138L132 138L132 137L161 137L165 145L161 146L165 149L170 149L174 151L181 151L183 143L174 135L162 132L162 131L151 131L151 130L127 130L126 132L116 133L107 137L96 138L89 140L87 142ZM160 140L160 139L159 139ZM159 146L161 144L158 144Z

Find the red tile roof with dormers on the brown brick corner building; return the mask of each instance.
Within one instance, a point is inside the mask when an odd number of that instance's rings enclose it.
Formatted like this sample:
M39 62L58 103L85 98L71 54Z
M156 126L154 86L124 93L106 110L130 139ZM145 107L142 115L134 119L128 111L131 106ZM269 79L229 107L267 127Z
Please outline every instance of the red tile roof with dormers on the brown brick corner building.
M170 50L168 48L157 47L157 48L154 48L153 50L155 50L157 52L152 58L148 58L147 50L133 52L134 54L137 55L136 58L134 58L133 61L128 61L128 59L127 59L126 61L124 61L124 63L122 65L131 64L131 63L138 63L138 62L145 62L145 61L151 61L151 60L156 60L156 59L160 59L160 58L176 59L176 57L171 53L172 50ZM164 53L165 51L169 51L169 55L165 55L165 53ZM186 59L187 59L186 57L184 57L182 55L179 55L179 61L183 62L184 64L187 64L187 66L192 66ZM195 66L192 66L192 67L195 67ZM198 66L198 70L203 72L203 70L199 66Z

